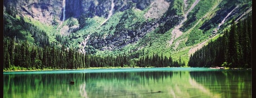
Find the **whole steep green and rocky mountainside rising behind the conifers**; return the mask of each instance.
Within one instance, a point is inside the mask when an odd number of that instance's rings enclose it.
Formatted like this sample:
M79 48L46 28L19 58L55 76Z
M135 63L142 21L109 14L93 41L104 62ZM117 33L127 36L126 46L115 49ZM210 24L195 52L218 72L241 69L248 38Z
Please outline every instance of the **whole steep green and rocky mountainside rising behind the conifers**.
M4 0L4 36L85 54L139 55L134 60L163 54L187 65L251 10L251 0Z

